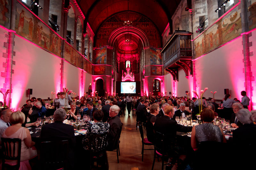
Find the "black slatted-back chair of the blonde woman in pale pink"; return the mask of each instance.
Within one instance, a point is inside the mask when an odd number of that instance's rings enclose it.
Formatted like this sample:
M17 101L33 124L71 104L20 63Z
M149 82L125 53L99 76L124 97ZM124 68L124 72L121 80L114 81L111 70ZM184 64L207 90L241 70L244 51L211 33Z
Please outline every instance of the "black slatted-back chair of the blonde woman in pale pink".
M21 152L21 139L19 138L3 138L2 140L2 169L19 169L20 168L20 152ZM18 144L18 148L17 147ZM15 156L16 155L16 156ZM8 165L5 160L17 160L17 165Z

